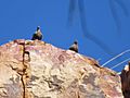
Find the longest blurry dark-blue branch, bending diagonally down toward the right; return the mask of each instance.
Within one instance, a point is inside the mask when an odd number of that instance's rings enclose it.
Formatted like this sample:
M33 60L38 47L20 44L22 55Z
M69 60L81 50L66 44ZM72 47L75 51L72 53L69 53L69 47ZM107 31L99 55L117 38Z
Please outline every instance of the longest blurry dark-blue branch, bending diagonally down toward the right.
M89 33L88 25L87 25L87 20L86 20L86 11L84 11L84 3L83 3L83 1L84 0L78 0L80 24L81 24L81 28L82 28L83 35L88 39L90 39L91 41L93 41L94 44L96 44L100 48L102 48L106 53L114 54L113 51L106 46L106 44L104 44L98 37L95 37L94 35L91 35Z

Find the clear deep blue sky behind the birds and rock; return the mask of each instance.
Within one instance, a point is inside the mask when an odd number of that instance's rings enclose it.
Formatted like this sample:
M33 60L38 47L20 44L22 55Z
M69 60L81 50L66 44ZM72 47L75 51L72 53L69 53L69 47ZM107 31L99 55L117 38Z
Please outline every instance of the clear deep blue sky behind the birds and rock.
M69 0L1 0L0 44L20 38L30 39L39 25L44 41L68 49L77 39L79 52L96 60L100 59L101 64L130 49L130 1L119 0L123 5L116 2L117 0L113 0L112 3L110 0L82 1L84 1L87 29L104 42L113 54L107 53L83 35L78 2L76 2L72 25L68 24ZM120 5L128 10L127 15ZM106 66L112 68L128 58L130 53L126 53ZM121 71L125 64L114 70Z

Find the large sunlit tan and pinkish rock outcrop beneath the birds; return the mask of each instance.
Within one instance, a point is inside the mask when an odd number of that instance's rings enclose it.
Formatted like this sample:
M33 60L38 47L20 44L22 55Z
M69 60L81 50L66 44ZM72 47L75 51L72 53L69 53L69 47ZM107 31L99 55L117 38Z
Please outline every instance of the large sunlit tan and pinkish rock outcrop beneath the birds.
M98 61L40 40L0 47L0 98L123 98L120 77Z

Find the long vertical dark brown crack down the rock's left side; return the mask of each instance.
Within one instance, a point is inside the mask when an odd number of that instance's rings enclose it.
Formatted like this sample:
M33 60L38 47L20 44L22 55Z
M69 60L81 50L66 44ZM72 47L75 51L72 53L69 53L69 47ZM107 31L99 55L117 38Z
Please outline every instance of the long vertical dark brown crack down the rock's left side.
M23 98L27 98L26 97L26 85L27 85L27 78L29 78L29 73L27 72L27 70L29 70L29 61L30 61L30 56L29 56L29 51L26 50L26 42L25 41L17 41L17 40L14 40L14 42L17 42L18 45L22 46L22 57L23 57L23 60L22 60L22 64L23 64L23 70L18 70L18 69L13 69L14 71L17 72L17 74L21 75L21 82L22 82L22 85L23 85Z

